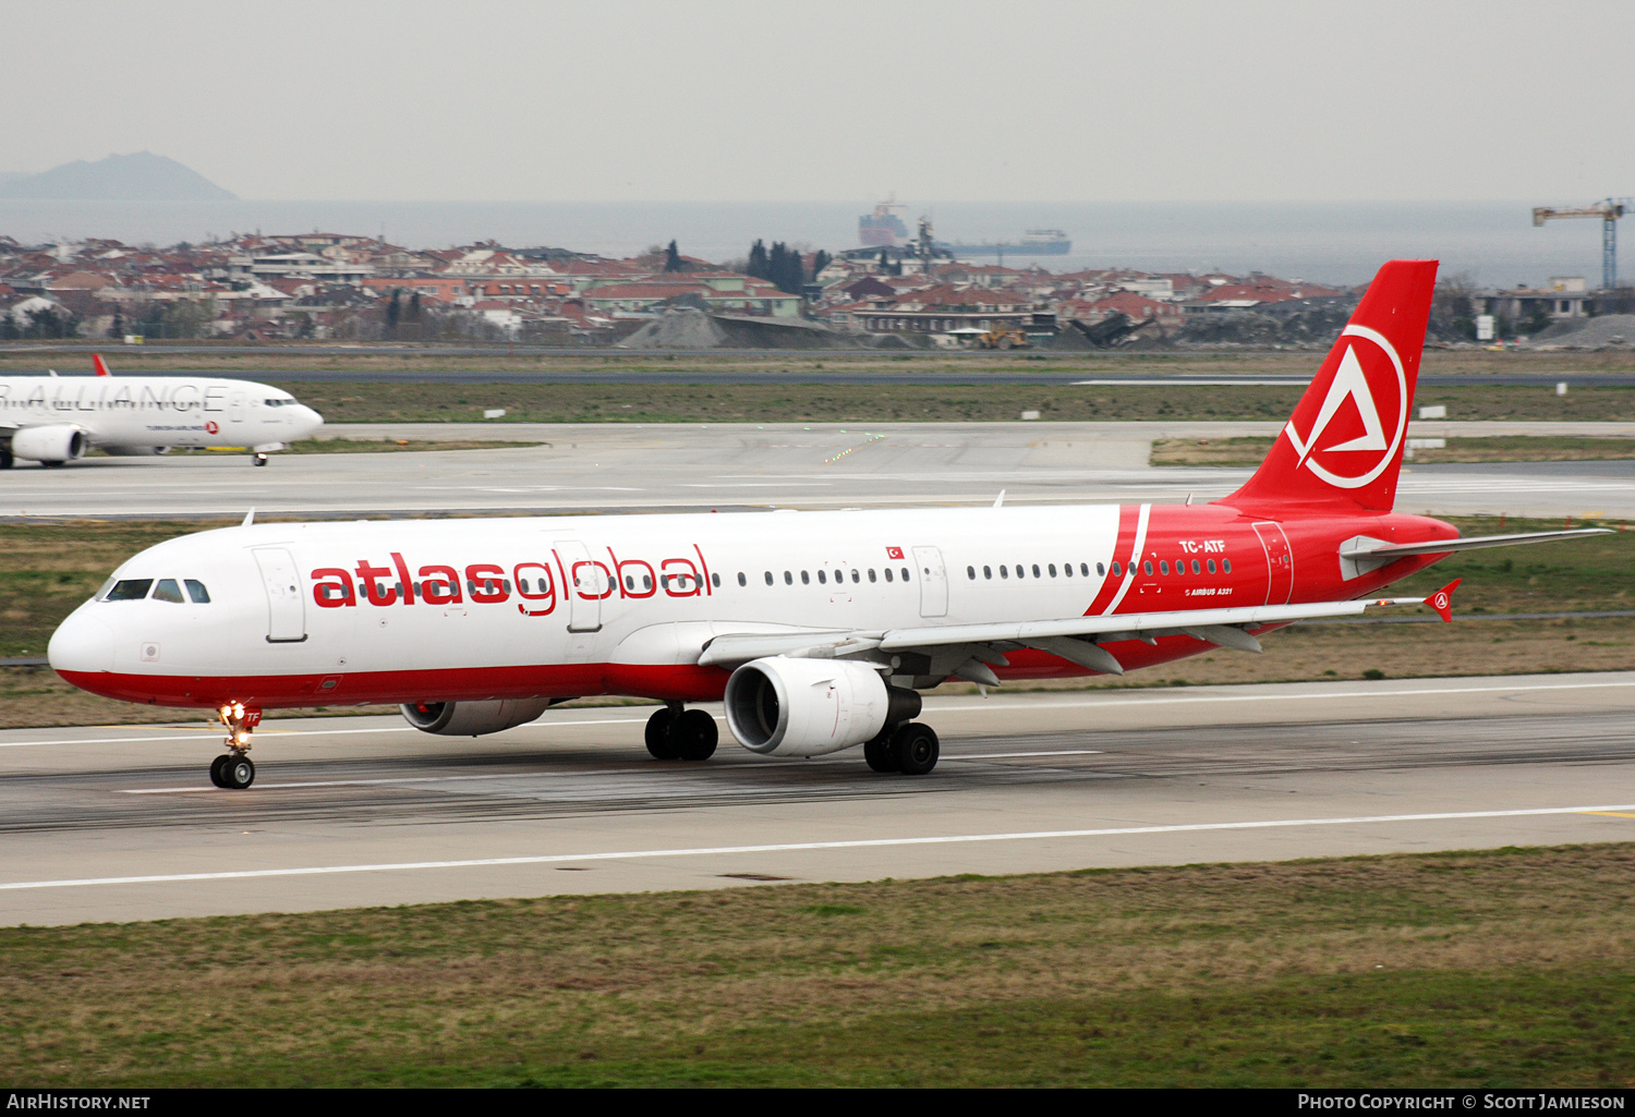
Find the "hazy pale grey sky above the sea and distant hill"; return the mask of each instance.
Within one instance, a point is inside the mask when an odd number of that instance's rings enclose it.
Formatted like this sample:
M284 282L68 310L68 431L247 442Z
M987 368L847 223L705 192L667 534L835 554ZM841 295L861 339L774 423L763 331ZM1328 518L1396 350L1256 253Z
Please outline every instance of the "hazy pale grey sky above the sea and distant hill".
M0 170L262 200L1635 195L1635 3L0 0Z

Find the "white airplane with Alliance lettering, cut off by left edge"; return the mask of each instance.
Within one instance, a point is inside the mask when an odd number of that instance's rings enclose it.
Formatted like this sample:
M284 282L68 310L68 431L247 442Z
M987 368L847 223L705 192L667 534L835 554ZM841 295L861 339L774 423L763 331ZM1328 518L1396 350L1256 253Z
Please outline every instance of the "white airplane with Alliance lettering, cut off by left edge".
M95 376L0 376L0 469L20 458L62 466L92 446L116 458L172 446L273 450L306 438L324 417L280 388L216 376L113 376L100 353Z

